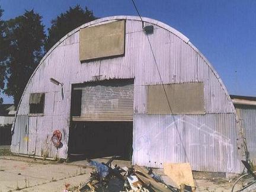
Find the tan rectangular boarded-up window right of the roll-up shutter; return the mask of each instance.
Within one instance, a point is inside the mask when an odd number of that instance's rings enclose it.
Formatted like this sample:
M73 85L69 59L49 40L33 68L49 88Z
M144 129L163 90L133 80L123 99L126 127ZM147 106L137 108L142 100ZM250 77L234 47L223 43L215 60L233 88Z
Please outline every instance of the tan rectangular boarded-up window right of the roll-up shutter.
M148 114L204 114L203 82L148 86ZM169 101L169 104L168 104Z

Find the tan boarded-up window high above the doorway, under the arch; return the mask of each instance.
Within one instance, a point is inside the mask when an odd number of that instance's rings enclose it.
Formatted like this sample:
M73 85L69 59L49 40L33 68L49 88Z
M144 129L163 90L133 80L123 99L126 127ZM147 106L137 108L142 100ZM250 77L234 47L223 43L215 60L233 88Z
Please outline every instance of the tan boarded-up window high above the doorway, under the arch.
M80 60L124 54L124 20L80 30Z

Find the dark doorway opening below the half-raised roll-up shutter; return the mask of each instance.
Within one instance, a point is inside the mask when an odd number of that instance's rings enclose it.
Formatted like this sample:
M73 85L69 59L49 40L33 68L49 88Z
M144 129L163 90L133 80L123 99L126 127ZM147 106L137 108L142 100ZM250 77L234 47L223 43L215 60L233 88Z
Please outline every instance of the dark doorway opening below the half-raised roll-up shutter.
M69 158L120 156L132 159L132 121L73 121L69 129Z

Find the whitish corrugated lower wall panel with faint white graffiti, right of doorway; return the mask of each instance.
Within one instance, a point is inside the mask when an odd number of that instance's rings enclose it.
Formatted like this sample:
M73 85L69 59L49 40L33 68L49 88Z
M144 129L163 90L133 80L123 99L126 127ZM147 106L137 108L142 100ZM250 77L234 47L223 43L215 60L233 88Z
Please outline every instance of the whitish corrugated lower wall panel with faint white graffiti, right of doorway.
M234 114L136 114L132 163L162 168L164 162L190 162L197 171L238 173L236 134Z

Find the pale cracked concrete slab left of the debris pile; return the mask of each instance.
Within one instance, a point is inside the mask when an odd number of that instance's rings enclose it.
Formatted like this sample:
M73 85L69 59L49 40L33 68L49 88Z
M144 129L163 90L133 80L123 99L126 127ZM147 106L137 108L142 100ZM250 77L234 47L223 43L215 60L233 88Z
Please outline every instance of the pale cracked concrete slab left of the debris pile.
M89 175L92 168L0 159L0 170L0 191L15 191L62 180L68 182L68 179L72 177ZM80 181L86 182L87 178L87 176L84 176ZM71 181L76 181L76 179L73 178ZM49 184L49 186L52 186L52 184ZM57 182L55 187L63 188L63 182Z

